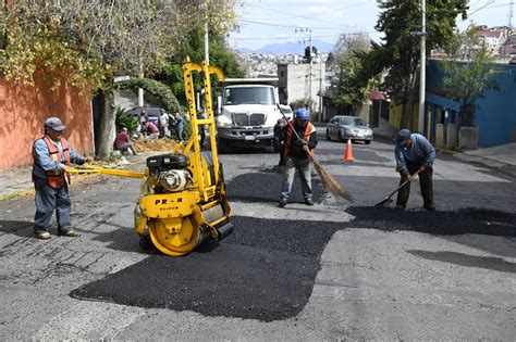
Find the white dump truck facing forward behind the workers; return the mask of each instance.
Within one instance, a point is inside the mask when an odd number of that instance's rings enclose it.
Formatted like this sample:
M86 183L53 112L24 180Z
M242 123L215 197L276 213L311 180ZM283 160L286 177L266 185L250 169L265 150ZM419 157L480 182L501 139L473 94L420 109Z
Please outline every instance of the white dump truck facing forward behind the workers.
M216 117L218 147L273 147L278 107L278 78L226 78Z

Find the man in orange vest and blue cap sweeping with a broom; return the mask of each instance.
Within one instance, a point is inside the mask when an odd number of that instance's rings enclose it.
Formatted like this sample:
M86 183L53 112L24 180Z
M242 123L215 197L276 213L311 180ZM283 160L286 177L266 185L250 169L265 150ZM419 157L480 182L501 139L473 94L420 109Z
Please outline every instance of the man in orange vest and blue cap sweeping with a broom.
M311 191L311 162L308 153L317 145L316 127L309 122L310 113L307 109L298 109L291 125L285 125L281 143L284 145L285 167L283 187L280 192L280 207L284 207L288 200L294 182L296 169L302 181L302 192L306 205L314 205ZM293 131L293 128L297 135ZM299 137L299 138L298 138Z

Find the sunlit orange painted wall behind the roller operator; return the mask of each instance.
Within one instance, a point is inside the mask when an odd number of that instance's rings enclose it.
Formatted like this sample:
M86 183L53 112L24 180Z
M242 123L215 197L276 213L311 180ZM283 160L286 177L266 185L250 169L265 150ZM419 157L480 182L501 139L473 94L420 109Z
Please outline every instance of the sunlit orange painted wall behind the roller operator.
M66 126L64 138L82 154L94 152L89 92L61 85L57 90L42 78L36 86L13 84L0 77L0 169L32 165L33 142L42 136L44 122L58 116Z

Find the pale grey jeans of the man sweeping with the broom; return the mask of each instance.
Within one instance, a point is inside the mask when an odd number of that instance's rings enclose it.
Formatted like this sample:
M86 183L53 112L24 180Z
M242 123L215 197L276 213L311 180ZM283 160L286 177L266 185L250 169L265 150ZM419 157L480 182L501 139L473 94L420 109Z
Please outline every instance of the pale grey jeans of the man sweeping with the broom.
M314 192L311 191L311 162L309 159L298 160L287 156L283 172L283 187L281 188L280 200L288 199L296 169L299 172L302 181L302 192L305 200L311 200Z

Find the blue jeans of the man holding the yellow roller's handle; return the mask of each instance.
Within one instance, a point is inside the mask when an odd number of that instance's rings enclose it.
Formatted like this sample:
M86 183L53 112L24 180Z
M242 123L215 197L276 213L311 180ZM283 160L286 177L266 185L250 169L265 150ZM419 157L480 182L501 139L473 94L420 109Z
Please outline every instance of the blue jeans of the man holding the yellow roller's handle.
M58 232L69 231L70 211L72 203L69 198L69 187L66 182L59 189L48 186L47 179L35 178L34 189L36 190L36 215L34 217L34 233L47 231L52 220L53 210L58 220Z

